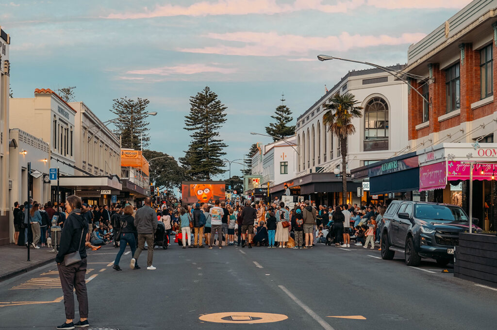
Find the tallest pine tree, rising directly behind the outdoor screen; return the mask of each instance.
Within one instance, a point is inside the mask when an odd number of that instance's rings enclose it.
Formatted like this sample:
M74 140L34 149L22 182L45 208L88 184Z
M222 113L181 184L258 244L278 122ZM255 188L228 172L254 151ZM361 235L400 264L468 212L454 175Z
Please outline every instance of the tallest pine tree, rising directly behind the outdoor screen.
M226 109L208 86L190 97L190 113L185 116L184 129L192 132L192 141L179 161L186 175L194 180L210 180L226 171L221 158L226 155L223 150L227 145L219 139L219 129L226 122Z

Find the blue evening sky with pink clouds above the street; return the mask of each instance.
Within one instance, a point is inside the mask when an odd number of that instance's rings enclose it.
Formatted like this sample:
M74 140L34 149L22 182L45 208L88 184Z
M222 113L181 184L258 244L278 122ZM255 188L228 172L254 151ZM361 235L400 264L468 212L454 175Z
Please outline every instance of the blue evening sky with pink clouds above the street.
M150 149L177 159L190 142L189 97L209 86L228 107L220 133L226 158L236 160L252 143L271 141L250 132L265 133L282 93L295 124L325 84L368 68L317 55L406 63L410 44L469 2L0 0L0 26L11 37L14 97L76 86L76 100L102 121L114 118L114 98L148 98L158 112ZM232 175L242 168L233 164Z

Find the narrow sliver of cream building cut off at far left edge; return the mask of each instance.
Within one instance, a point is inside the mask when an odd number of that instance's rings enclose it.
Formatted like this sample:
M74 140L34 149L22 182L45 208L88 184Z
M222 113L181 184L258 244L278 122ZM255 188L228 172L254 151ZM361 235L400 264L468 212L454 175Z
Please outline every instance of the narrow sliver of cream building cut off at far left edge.
M10 36L0 27L0 245L9 243L8 158L9 158L9 62Z

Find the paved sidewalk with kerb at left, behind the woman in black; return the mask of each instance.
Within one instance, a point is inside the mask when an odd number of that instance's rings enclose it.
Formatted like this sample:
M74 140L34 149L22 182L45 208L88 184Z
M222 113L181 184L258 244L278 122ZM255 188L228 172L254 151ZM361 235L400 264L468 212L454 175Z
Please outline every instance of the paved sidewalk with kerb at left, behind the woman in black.
M30 260L27 261L28 249L10 244L0 247L0 281L25 273L31 269L55 262L52 248L30 249Z

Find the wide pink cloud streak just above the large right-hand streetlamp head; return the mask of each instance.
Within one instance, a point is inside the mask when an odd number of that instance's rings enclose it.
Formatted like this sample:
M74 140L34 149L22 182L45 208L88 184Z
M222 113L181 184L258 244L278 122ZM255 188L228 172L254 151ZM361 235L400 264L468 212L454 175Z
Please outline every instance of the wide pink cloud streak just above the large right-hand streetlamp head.
M241 47L218 44L203 48L179 48L177 51L201 54L238 56L302 56L310 51L347 51L351 48L412 44L425 36L424 33L403 33L399 37L389 35L350 35L342 32L338 36L306 37L279 35L276 32L232 32L208 33L206 37L227 42L241 42ZM302 59L300 60L302 61Z

